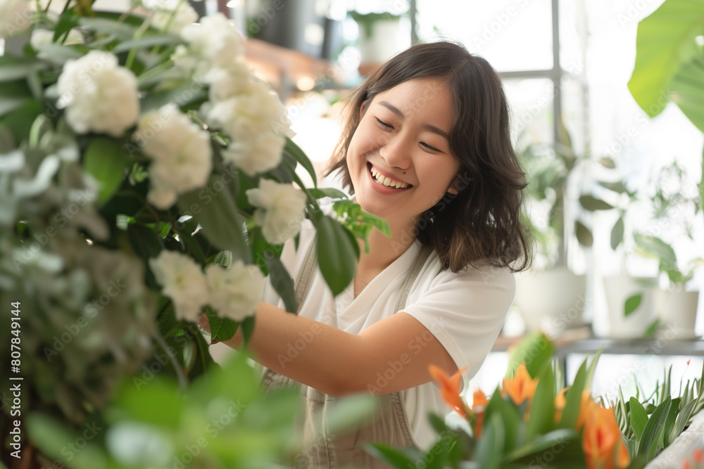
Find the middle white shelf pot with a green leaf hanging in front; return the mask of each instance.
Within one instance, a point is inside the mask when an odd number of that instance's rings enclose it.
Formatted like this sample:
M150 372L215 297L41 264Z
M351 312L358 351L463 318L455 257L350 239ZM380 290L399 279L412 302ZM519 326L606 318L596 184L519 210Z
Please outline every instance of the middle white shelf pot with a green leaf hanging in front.
M606 302L609 310L608 337L614 339L642 338L657 319L655 313L655 278L631 276L604 277ZM626 300L641 294L639 306L625 315Z

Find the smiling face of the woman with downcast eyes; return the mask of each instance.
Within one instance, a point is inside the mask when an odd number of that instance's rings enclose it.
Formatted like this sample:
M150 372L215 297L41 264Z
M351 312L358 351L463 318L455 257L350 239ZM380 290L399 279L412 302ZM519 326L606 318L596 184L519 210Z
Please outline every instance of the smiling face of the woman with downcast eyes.
M415 224L448 190L456 193L451 185L460 162L450 153L452 120L452 95L439 79L403 82L372 99L347 150L365 212Z

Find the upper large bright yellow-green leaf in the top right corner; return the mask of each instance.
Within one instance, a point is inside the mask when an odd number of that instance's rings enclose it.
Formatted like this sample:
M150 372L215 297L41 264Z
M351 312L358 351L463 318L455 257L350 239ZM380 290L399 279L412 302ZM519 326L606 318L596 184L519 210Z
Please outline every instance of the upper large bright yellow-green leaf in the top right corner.
M703 23L700 1L667 0L638 24L636 63L628 88L650 117L667 105L667 89L682 64L701 54L695 38L702 34Z

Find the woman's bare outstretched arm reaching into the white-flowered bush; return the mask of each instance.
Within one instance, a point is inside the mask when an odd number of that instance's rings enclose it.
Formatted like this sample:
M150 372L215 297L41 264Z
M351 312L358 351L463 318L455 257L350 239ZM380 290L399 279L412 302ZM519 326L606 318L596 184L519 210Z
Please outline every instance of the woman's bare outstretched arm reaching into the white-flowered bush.
M205 315L199 323L209 330ZM225 344L239 349L241 340L238 330ZM434 335L403 312L353 335L262 302L249 349L263 366L337 397L422 385L431 380L430 364L450 374L457 371Z

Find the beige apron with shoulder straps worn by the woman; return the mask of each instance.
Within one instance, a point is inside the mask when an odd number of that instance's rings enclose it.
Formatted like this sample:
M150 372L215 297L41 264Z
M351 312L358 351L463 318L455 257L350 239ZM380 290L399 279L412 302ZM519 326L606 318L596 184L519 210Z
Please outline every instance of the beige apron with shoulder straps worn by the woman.
M408 271L398 296L395 311L406 306L406 299L432 248L423 248L415 263ZM310 279L317 266L315 241L310 245L303 262L303 268L296 279L296 296L301 304L308 293ZM304 450L298 455L297 468L387 468L386 464L368 454L363 445L382 443L394 448L413 446L410 426L406 416L401 392L376 396L377 411L370 423L346 432L344 435L332 435L327 431L327 414L337 401L343 399L332 397L313 387L302 385L268 368L263 368L262 384L265 390L282 387L300 386L303 411L296 419L296 432L303 436Z

